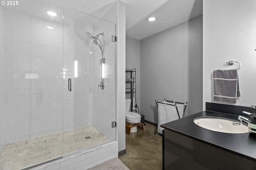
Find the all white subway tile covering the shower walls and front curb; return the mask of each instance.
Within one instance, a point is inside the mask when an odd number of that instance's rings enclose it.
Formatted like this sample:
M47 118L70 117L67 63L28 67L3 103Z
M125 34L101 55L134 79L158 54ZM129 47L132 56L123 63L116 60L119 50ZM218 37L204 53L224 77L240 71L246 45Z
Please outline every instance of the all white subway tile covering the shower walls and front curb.
M46 28L49 24L54 29ZM98 89L101 51L86 31L104 32L99 37L106 57L104 90ZM111 127L116 120L116 43L111 42L115 31L116 25L106 21L94 27L71 21L63 27L0 8L0 152L6 143L90 125L115 139L116 128ZM118 143L93 150L34 169L87 169L117 157Z

